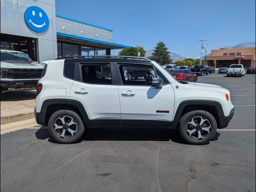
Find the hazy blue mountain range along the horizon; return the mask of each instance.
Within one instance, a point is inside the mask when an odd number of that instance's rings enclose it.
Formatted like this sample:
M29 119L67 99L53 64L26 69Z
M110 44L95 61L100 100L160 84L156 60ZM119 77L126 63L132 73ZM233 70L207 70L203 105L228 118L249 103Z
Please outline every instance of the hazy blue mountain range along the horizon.
M240 43L236 46L225 46L223 48L225 49L235 49L235 48L252 48L255 47L255 42L244 42L244 43ZM153 50L146 50L146 57L151 56ZM210 54L208 54L207 56L209 56ZM172 62L178 61L178 60L184 60L187 57L181 56L179 54L170 52L170 57L172 58ZM204 59L204 56L202 56L202 59Z

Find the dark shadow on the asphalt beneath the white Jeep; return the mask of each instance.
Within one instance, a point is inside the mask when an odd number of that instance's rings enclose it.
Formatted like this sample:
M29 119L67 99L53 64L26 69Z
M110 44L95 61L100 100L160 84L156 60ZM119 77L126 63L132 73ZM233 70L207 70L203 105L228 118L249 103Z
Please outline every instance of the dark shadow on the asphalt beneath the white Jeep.
M217 132L212 141L218 140L220 134ZM40 128L36 131L36 138L48 139L48 142L56 143L49 134L47 128ZM97 128L87 129L84 135L76 143L82 141L172 141L179 144L188 144L182 140L176 130L166 129L113 129ZM207 143L208 144L208 143Z

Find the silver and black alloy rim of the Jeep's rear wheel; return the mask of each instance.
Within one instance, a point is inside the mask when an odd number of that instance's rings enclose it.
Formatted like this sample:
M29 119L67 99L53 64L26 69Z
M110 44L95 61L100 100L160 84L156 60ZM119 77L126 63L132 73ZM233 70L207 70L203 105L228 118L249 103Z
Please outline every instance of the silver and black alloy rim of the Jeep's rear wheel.
M54 121L54 133L61 138L69 139L77 132L77 122L74 118L62 115Z

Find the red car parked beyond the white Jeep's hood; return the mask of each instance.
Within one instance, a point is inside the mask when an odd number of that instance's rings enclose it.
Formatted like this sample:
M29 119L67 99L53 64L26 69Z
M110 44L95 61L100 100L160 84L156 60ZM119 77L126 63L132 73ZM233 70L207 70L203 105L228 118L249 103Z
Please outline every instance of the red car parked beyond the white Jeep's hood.
M178 81L197 81L197 75L189 69L174 70L171 75Z

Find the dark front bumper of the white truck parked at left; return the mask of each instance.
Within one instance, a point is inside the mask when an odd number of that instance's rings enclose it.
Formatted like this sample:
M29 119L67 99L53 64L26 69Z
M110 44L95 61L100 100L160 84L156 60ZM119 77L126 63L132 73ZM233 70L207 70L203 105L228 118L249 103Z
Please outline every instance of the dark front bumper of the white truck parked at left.
M13 81L5 81L1 80L1 87L4 88L34 88L38 83L38 79L36 80L13 80Z

